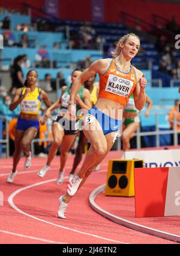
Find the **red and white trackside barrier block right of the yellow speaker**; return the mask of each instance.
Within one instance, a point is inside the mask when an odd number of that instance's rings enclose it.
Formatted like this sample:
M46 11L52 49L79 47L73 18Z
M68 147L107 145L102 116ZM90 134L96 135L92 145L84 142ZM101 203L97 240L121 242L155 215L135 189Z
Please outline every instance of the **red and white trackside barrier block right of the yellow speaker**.
M136 217L180 216L180 167L135 168Z

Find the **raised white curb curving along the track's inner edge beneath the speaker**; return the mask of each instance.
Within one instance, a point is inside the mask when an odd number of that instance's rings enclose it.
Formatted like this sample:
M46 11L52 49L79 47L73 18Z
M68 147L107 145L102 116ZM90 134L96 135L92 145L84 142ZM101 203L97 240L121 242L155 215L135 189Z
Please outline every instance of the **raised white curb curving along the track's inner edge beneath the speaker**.
M121 217L118 217L112 213L109 213L108 211L103 210L101 207L99 207L95 203L95 198L98 196L101 192L103 192L106 189L106 184L101 185L100 187L97 187L97 189L93 190L91 194L89 195L89 204L91 205L92 209L97 211L97 213L101 214L103 217L106 217L109 220L112 220L113 222L116 222L120 225L127 226L127 228L136 229L137 231L141 231L146 234L150 234L152 236L161 237L163 239L172 240L174 242L180 242L180 236L163 232L158 229L149 228L148 226L139 225L136 222L131 222L126 219L122 219Z

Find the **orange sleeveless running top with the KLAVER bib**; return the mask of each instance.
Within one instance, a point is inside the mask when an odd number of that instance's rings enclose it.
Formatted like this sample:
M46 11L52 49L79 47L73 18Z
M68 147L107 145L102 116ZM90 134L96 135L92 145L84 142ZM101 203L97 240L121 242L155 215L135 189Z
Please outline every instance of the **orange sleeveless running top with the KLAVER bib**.
M131 65L129 72L122 72L116 66L116 59L113 58L106 72L100 76L99 98L110 99L125 107L136 83L134 67Z

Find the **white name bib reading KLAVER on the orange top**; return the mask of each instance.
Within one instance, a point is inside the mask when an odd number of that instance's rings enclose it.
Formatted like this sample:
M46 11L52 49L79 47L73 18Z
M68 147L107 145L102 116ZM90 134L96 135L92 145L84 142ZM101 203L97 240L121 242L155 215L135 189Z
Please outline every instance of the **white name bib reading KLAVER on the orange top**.
M133 87L133 81L110 74L106 84L106 92L128 97Z

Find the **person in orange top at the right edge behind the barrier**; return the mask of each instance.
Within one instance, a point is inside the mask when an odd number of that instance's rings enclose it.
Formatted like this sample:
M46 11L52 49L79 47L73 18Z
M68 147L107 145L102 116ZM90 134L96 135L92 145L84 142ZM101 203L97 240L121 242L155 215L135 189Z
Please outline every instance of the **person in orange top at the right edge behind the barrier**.
M180 130L180 112L179 112L179 99L175 99L175 105L168 114L168 120L170 124L171 130ZM175 120L176 119L176 120ZM174 126L174 123L176 121L176 127ZM173 145L173 134L172 134L172 145ZM178 144L180 144L180 134L178 134Z

